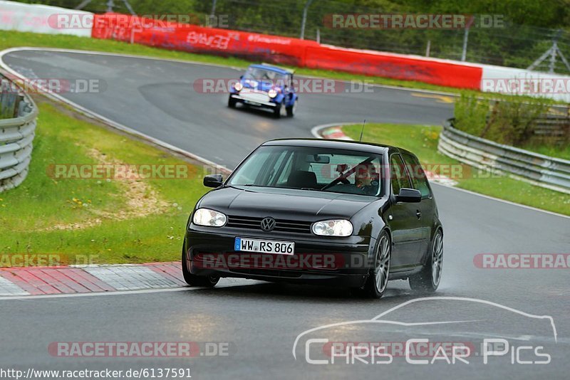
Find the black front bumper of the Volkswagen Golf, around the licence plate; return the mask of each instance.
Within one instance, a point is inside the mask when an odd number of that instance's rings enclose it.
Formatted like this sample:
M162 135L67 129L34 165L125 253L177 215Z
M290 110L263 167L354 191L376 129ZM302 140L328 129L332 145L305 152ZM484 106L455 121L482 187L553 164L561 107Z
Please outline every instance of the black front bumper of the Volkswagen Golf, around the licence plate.
M375 239L367 236L331 239L312 234L197 228L186 233L187 262L182 263L195 275L360 287L368 278L368 258L373 257L371 246L375 246ZM279 255L235 251L236 237L294 241L295 252Z

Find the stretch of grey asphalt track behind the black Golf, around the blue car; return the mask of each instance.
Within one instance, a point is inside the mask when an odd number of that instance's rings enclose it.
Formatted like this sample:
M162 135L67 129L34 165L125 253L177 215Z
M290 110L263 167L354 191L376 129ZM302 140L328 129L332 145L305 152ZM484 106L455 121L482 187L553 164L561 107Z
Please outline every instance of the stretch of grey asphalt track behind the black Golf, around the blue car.
M365 118L433 125L452 115L450 104L414 97L410 91L370 88L374 93L301 94L298 117L275 120L265 111L228 109L225 93L195 91L197 80L239 78L241 71L231 68L48 51L9 53L4 62L27 78L100 80L101 93L64 96L229 168L268 139L312 137L315 125Z

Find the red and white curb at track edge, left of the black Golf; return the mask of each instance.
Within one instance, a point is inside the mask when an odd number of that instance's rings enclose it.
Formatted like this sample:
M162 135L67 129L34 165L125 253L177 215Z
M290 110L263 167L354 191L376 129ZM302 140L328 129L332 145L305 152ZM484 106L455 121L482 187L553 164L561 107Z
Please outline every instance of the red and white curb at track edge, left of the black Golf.
M0 268L0 296L166 289L186 285L180 262Z

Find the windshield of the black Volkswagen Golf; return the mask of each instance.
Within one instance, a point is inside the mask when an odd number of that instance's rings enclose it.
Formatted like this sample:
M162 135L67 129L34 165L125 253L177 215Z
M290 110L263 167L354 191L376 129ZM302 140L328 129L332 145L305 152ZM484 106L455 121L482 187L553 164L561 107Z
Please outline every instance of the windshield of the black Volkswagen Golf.
M259 147L227 182L343 194L380 196L381 157L313 147Z

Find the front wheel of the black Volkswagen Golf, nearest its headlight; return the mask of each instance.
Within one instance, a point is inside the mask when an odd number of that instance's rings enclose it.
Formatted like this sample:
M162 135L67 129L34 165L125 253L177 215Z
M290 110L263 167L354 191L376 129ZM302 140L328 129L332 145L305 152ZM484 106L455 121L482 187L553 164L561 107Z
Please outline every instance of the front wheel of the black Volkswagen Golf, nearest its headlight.
M386 231L380 233L378 246L374 254L374 267L368 275L366 284L361 289L363 295L370 298L381 298L388 287L390 276L390 259L392 258L392 243Z

